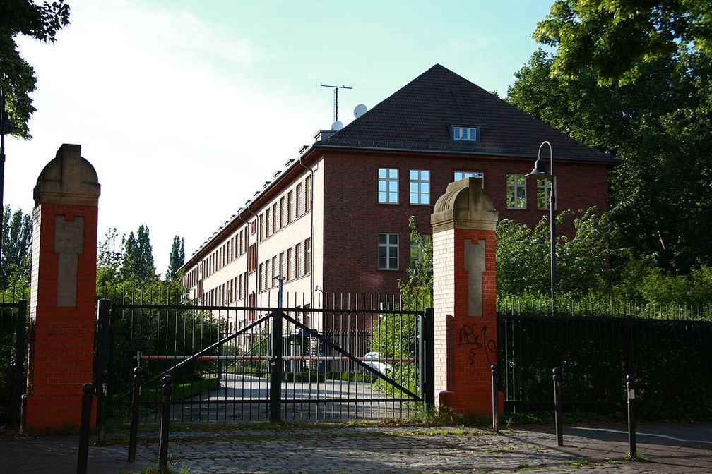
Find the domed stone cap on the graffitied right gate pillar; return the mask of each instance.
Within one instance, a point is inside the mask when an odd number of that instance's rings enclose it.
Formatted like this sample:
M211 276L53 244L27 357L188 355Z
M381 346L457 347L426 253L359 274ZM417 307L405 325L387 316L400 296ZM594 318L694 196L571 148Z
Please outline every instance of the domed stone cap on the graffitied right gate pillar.
M433 232L451 229L496 230L498 211L482 188L482 178L464 178L447 185L435 203Z

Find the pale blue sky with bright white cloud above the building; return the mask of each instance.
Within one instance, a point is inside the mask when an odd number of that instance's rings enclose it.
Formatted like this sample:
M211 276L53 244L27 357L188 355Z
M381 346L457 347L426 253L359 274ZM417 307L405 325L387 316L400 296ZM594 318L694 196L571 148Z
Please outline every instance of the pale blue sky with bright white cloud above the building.
M505 96L547 1L68 0L36 70L31 141L6 138L5 203L29 212L62 143L102 185L99 239L148 225L157 271L192 254L303 144L435 63Z

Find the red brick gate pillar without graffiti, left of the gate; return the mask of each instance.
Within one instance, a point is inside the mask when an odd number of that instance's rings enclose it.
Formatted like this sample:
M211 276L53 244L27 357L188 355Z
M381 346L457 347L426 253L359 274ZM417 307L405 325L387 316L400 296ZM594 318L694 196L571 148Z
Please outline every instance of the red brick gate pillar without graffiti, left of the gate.
M63 144L34 189L27 430L77 428L93 378L100 185L80 152Z

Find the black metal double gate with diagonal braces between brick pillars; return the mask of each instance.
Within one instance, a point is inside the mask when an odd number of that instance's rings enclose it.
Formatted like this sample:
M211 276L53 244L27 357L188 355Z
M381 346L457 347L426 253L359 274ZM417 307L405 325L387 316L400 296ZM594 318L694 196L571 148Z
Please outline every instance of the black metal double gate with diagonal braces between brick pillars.
M98 370L110 372L112 412L128 412L136 365L145 419L160 416L164 375L180 421L399 418L434 406L431 308L392 299L318 306L103 300L110 338L98 338Z

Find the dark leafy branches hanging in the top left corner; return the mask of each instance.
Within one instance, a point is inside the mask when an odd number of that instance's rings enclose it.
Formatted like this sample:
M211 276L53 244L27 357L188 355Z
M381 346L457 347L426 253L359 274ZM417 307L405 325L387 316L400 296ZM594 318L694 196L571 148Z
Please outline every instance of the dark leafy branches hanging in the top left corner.
M35 71L19 54L15 38L31 36L39 41L56 41L56 34L69 24L69 6L64 0L44 2L3 0L0 2L0 87L6 91L10 119L29 138L27 122L35 112L30 93L36 89Z

